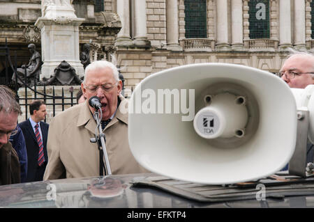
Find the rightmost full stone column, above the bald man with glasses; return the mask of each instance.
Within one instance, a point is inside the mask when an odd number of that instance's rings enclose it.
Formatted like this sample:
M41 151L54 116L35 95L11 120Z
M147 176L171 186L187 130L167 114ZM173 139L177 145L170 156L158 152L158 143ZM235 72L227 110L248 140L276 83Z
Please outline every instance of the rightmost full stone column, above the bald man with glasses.
M294 47L306 50L305 0L294 0Z

